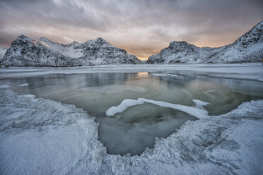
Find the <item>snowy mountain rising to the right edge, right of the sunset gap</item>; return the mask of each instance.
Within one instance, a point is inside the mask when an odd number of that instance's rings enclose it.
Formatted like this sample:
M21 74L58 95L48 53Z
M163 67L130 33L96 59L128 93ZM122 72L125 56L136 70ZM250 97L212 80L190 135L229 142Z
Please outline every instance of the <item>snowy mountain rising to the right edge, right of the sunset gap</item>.
M233 44L223 47L196 47L187 42L171 42L146 64L201 64L258 62L263 59L263 21L242 35Z

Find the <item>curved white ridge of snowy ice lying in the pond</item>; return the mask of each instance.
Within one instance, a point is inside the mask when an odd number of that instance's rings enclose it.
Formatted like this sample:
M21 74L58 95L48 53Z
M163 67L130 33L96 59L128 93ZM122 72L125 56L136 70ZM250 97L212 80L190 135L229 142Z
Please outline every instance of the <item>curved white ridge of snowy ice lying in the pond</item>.
M144 98L139 98L139 99L124 99L121 104L119 104L116 107L110 107L106 111L107 116L114 116L116 113L125 111L128 107L133 107L138 104L144 104L146 103L151 103L151 104L156 104L159 107L169 107L173 109L177 109L180 111L184 111L185 113L197 117L197 119L204 119L209 117L208 111L206 109L202 108L202 106L207 105L209 103L207 102L202 102L201 100L194 99L193 100L196 104L197 107L187 107L182 104L173 104L173 103L168 103L168 102L160 102L156 100L151 100L151 99L144 99Z

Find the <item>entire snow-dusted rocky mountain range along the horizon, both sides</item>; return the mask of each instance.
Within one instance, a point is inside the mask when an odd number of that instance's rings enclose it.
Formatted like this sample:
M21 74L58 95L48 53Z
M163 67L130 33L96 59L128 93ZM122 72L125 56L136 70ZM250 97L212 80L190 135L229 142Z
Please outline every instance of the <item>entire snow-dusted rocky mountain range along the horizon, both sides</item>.
M170 42L146 64L223 64L259 62L263 59L263 20L232 44L197 47L187 42ZM84 43L60 44L45 37L33 40L20 35L6 49L0 47L4 66L93 66L99 64L142 64L136 56L98 37Z

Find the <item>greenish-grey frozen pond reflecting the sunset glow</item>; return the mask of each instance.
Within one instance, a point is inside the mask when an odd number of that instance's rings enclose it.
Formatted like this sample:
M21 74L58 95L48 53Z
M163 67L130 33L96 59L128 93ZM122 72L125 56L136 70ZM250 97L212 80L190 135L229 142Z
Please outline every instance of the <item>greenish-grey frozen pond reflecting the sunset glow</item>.
M146 98L195 107L193 99L210 103L209 115L226 114L242 102L263 98L262 83L253 80L211 78L190 71L139 73L52 73L30 78L3 79L19 94L33 94L74 104L100 123L99 140L107 153L140 155L153 147L156 137L166 138L187 120L183 111L144 103L107 116L124 99Z

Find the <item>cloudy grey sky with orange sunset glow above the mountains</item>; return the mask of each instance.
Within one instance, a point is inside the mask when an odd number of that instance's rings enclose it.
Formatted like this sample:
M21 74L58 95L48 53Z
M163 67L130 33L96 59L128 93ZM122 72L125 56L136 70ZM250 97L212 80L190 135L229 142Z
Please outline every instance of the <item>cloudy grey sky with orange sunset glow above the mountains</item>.
M230 44L261 20L262 0L0 0L0 45L22 34L64 44L103 37L147 59L172 41Z

